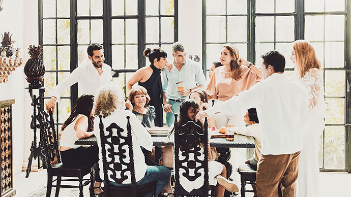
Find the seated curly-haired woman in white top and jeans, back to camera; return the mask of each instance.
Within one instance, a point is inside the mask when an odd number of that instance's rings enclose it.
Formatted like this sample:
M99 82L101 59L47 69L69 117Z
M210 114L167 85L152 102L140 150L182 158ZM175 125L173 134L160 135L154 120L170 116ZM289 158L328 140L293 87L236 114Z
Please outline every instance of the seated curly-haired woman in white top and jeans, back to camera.
M102 115L102 122L104 124L104 132L105 135L108 134L106 131L106 127L108 127L111 123L115 123L120 126L123 131L121 135L127 136L127 116L130 117L130 124L132 127L132 142L133 142L133 152L134 152L134 169L135 169L135 180L137 185L157 181L156 183L156 194L158 194L161 189L168 183L169 181L169 170L163 166L147 166L145 164L144 155L141 151L140 146L145 149L151 151L153 146L153 141L151 139L151 135L148 130L140 123L140 121L135 117L135 115L125 109L125 100L124 93L122 89L116 88L113 85L104 85L96 94L95 98L95 106L94 106L94 115L97 116L95 119L94 126L94 134L98 138L98 145L101 148L100 141L100 129L99 129L99 115ZM112 135L117 136L116 130L112 129ZM109 145L107 145L108 147ZM116 147L115 147L116 148ZM121 147L119 147L121 148ZM122 146L122 149L126 150L128 153L128 146ZM129 155L125 154L125 161L129 162ZM102 152L99 152L99 167L101 169L100 176L103 177L103 163L102 163ZM106 151L106 158L109 159L108 151ZM115 169L113 163L109 166L111 169ZM123 168L123 166L122 166ZM123 171L124 169L122 169ZM115 169L115 177L116 179L122 178L121 170ZM122 183L116 183L113 181L113 178L109 175L110 184L115 186L128 186L131 185L131 175L130 171L126 174L127 176ZM151 193L144 194L144 196L151 196Z

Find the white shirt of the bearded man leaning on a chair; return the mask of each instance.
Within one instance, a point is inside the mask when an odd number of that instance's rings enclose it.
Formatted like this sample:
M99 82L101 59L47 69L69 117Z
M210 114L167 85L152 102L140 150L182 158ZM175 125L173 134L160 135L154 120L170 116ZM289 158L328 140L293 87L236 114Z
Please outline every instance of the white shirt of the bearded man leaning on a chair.
M60 101L60 96L67 88L78 82L80 95L95 94L102 85L112 81L111 67L104 63L102 73L99 75L91 61L79 65L73 72L56 85L51 95ZM80 96L79 95L79 96Z

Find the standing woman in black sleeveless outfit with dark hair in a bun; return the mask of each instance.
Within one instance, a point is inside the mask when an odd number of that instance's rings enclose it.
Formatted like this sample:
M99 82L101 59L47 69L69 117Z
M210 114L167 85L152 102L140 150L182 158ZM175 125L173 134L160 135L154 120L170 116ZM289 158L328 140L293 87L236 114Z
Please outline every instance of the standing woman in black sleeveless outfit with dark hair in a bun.
M126 87L129 91L132 89L132 86L138 82L140 86L148 90L151 98L149 105L155 107L155 126L163 126L161 69L166 67L167 53L161 48L153 50L147 48L144 50L143 54L145 57L149 57L151 64L148 67L136 71L126 83Z

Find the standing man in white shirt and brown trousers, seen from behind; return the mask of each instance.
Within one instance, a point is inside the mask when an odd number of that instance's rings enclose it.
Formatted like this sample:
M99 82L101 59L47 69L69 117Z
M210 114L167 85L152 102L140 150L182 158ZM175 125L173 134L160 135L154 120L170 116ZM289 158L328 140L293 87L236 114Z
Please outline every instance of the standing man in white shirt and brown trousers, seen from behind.
M283 74L285 58L278 51L261 55L265 80L228 101L199 112L197 119L255 107L260 117L262 149L258 161L257 196L296 196L298 162L302 149L301 130L306 120L306 93Z

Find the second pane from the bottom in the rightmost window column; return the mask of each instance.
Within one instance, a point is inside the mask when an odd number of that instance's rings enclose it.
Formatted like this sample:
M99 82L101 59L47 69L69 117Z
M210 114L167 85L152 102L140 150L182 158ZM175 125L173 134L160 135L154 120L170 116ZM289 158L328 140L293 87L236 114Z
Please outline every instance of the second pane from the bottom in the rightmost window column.
M326 98L326 124L344 124L345 98Z

